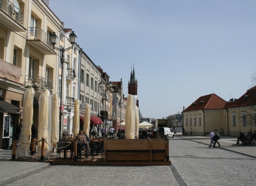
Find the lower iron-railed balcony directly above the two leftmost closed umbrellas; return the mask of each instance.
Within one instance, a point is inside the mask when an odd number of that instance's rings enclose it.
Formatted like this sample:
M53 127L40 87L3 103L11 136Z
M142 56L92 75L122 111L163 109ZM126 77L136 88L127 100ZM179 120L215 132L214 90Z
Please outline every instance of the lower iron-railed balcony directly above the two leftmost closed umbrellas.
M50 93L53 93L54 89L52 81L47 80L39 75L26 75L25 88L27 88L29 85L32 85L35 90L40 90L40 92L46 88L50 91Z

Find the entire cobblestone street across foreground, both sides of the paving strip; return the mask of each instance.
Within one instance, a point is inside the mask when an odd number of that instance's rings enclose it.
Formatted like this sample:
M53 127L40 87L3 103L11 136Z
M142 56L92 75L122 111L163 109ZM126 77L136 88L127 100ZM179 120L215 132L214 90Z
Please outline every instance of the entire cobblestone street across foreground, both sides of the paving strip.
M171 166L48 166L0 186L244 186L256 183L256 159L175 137Z

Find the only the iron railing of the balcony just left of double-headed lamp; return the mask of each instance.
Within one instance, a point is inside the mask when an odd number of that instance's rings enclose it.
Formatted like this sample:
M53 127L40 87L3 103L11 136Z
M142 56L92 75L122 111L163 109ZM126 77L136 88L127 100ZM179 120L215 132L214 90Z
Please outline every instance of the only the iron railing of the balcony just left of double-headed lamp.
M40 27L28 27L27 37L30 40L40 40L45 43L47 46L53 49L50 36L45 33Z

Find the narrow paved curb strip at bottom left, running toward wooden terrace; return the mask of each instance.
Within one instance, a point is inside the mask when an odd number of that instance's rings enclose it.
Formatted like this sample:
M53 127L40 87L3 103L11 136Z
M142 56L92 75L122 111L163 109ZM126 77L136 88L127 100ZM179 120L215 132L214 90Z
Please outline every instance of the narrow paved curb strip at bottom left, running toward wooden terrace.
M33 171L39 170L39 169L47 167L49 165L50 165L50 163L42 163L40 165L30 167L30 168L24 169L22 171L18 171L17 173L9 174L5 177L0 177L0 183L2 184L5 181L8 181L8 180L13 179L13 178L18 177L18 176L22 176L22 175L27 174L27 173L31 173Z

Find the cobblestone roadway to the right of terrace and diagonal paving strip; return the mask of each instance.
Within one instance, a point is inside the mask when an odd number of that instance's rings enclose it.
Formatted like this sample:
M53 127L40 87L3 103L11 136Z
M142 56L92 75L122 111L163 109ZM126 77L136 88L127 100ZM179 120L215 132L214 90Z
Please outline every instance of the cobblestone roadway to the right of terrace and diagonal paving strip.
M256 184L255 158L181 138L169 144L171 163L187 186Z

